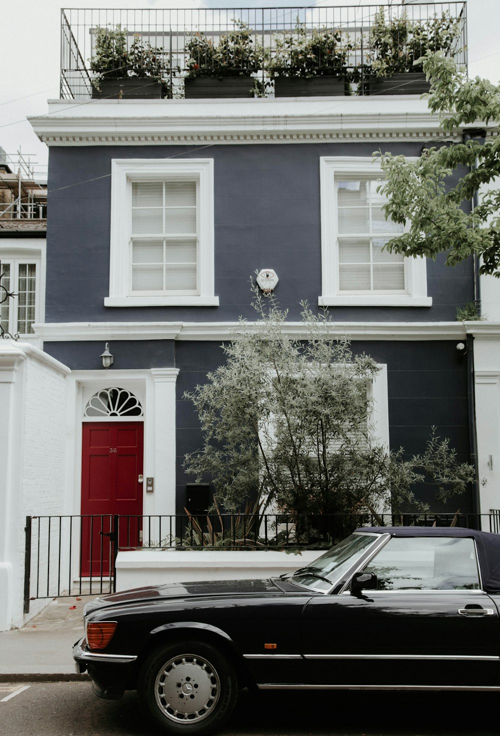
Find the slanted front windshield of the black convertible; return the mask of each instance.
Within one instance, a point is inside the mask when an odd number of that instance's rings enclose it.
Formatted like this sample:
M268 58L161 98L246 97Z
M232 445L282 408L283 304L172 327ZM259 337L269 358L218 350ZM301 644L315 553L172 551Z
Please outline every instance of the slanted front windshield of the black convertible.
M342 539L342 542L315 559L310 565L296 570L292 579L308 588L329 590L334 582L342 578L345 571L355 565L356 560L378 539L380 539L379 534L351 534L351 537Z

